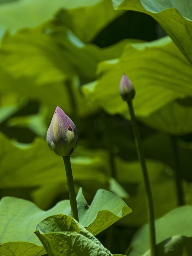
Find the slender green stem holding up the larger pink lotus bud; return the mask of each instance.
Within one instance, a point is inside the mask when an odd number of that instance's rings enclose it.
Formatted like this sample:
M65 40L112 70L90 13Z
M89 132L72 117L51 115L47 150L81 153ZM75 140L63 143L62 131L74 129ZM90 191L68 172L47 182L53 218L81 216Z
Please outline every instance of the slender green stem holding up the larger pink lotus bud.
M72 217L78 221L78 210L77 210L76 196L75 196L75 190L74 190L74 182L72 177L70 156L63 156L63 161L65 164L65 171L67 176L67 185L69 189L71 213L72 213Z

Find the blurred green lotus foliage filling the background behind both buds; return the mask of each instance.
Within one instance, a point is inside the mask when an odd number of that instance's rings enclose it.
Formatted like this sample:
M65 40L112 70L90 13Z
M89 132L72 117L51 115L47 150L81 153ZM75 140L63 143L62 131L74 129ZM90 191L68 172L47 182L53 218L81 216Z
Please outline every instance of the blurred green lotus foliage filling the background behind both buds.
M59 105L78 130L71 157L76 191L82 186L90 203L105 188L133 210L99 235L113 253L125 251L147 223L131 122L118 91L125 73L136 89L156 218L177 206L172 137L185 201L192 203L192 67L151 16L114 10L111 0L0 0L0 36L1 198L25 198L44 210L68 199L62 159L45 140Z

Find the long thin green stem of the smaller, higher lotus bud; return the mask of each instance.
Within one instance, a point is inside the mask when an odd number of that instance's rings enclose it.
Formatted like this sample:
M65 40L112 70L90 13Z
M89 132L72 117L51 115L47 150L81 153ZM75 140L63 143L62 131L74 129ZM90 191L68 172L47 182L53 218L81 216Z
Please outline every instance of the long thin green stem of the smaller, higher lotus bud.
M155 214L153 208L153 197L151 192L151 186L149 182L149 175L147 172L147 165L145 161L145 155L143 151L143 147L141 144L141 137L139 134L138 126L135 119L135 112L133 108L132 100L128 100L127 104L129 106L129 112L131 115L131 121L133 126L133 133L135 136L135 144L137 148L137 155L141 162L141 168L143 170L143 178L145 182L145 190L147 194L147 204L148 204L148 211L149 211L149 236L150 236L150 247L151 247L151 256L157 256L156 250L156 234L155 234Z

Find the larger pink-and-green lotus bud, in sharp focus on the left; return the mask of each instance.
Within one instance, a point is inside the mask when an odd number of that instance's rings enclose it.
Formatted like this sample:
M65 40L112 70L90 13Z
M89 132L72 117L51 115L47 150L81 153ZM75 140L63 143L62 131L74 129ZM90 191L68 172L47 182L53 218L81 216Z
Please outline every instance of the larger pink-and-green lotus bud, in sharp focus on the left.
M47 144L58 156L70 156L76 149L77 131L72 120L57 106L47 131Z

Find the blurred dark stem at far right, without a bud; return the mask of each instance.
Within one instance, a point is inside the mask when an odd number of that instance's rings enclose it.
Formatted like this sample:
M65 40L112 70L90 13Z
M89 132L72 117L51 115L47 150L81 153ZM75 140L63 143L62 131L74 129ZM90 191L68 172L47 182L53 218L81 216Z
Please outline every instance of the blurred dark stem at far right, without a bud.
M177 192L178 205L184 205L184 194L182 189L182 178L180 176L180 160L176 136L171 136L172 150L174 157L175 184Z

